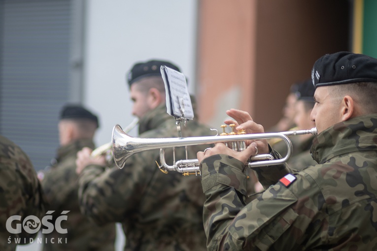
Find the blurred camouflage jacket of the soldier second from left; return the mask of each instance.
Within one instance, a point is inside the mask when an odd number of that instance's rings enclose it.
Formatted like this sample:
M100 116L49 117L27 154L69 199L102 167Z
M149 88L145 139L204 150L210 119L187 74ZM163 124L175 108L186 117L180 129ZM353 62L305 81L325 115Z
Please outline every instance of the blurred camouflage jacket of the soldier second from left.
M52 233L44 234L43 251L82 251L99 250L113 251L115 242L115 224L98 226L81 214L77 197L76 154L83 147L94 148L90 139L76 140L57 151L56 164L46 173L42 180L42 187L46 195L47 211L52 211L52 222L69 211L67 220L63 220L61 227L67 233L59 233L56 228ZM54 239L52 239L54 238ZM61 238L61 243L58 243Z

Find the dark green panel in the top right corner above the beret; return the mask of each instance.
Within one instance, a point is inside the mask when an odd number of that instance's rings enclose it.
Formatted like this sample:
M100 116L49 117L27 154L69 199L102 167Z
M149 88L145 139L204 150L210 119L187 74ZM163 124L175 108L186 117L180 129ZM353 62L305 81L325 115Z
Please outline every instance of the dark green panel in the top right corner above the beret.
M364 0L363 54L377 58L376 0Z

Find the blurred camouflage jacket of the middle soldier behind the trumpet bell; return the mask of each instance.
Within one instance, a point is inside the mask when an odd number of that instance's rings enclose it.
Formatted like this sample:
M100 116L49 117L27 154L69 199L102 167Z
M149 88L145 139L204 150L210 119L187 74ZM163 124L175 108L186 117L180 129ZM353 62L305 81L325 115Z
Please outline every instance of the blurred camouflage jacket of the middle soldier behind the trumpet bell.
M175 120L165 105L139 121L142 138L177 137ZM213 135L196 121L182 125L184 137ZM188 147L196 158L207 146ZM175 159L185 159L184 148L175 149ZM178 172L164 174L157 167L160 150L131 156L123 169L87 166L79 177L82 211L96 222L121 222L126 235L125 250L206 250L203 228L203 194L200 177ZM166 162L173 164L167 149Z

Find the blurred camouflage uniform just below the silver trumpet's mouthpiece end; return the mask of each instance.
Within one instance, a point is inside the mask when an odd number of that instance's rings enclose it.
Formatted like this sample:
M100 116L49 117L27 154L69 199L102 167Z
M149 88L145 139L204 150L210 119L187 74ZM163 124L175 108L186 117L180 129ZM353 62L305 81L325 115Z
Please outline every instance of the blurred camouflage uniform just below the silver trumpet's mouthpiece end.
M308 140L302 142L299 146L300 153L291 157L288 160L288 165L292 170L301 171L309 165L316 165L317 162L311 157L310 147L313 141L314 135ZM276 149L275 149L276 150ZM280 152L279 152L280 153Z

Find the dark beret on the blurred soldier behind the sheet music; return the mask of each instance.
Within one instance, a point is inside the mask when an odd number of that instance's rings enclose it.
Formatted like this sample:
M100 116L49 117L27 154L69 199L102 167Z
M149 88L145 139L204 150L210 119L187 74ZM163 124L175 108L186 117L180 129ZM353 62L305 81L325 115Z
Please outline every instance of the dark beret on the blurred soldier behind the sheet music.
M132 83L144 78L151 76L161 76L161 65L166 65L176 71L180 71L178 66L161 60L150 60L147 62L138 62L134 64L132 69L127 73L127 82L131 87Z

